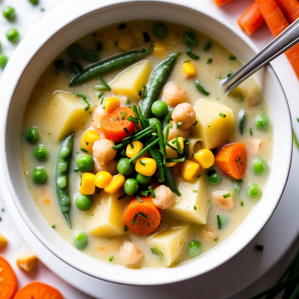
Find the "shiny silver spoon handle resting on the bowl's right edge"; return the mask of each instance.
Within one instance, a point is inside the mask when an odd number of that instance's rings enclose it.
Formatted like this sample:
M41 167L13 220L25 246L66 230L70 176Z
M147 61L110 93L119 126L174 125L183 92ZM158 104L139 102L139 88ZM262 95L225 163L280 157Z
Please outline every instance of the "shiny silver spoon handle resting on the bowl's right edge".
M262 51L239 68L222 86L228 94L260 68L299 42L299 18L269 43Z

